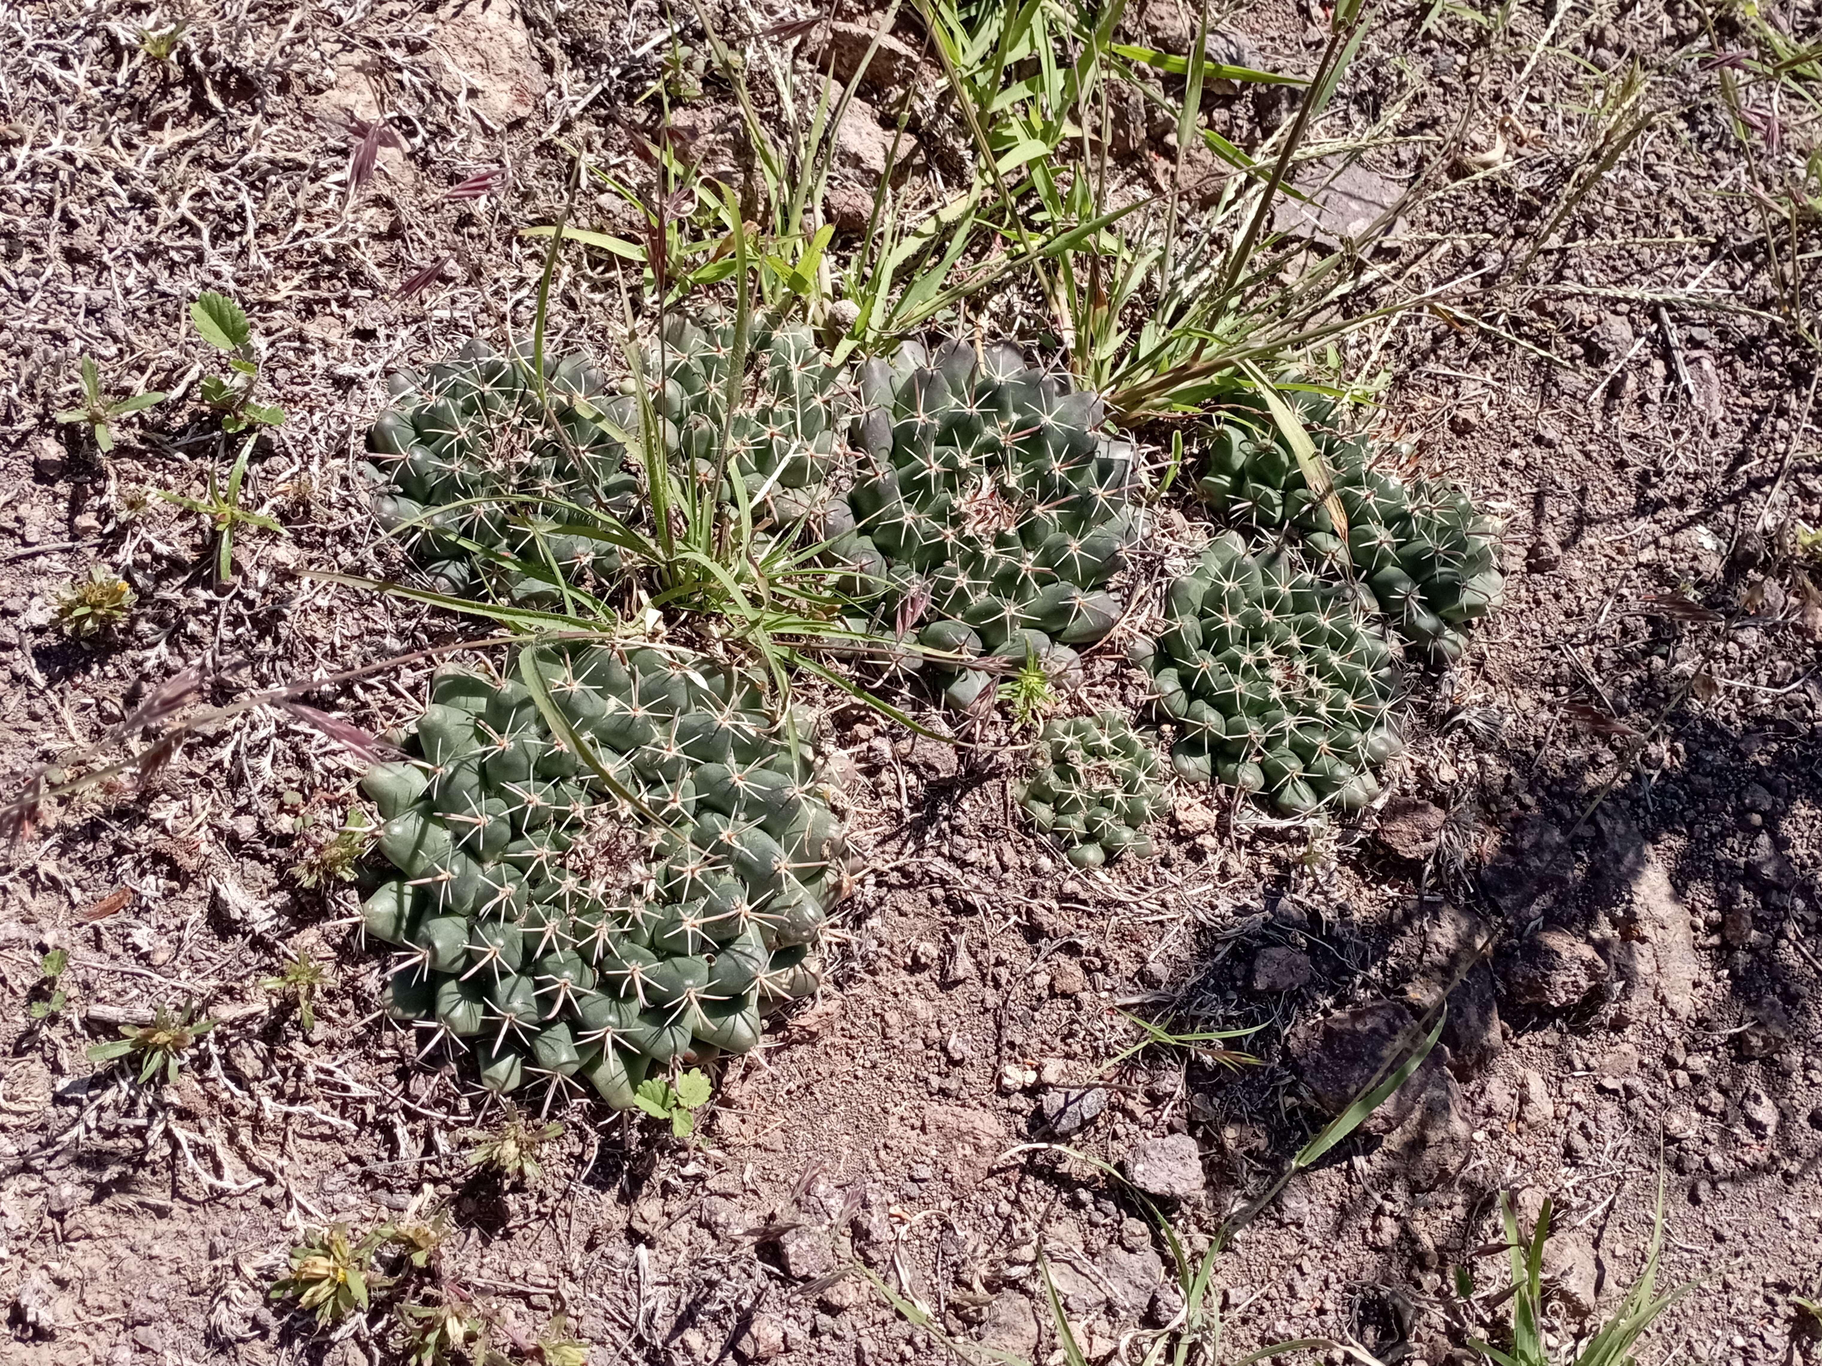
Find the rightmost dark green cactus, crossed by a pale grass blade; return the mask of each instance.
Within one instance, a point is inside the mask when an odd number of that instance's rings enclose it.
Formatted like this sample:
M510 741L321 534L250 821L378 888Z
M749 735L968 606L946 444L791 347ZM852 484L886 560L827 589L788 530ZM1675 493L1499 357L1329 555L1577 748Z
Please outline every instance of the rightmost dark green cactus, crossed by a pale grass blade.
M1326 428L1330 408L1306 401L1305 417L1348 521L1346 561L1361 605L1383 612L1418 650L1439 661L1461 656L1463 632L1500 605L1498 526L1474 512L1447 479L1408 484L1368 464L1363 437ZM1295 526L1310 552L1343 570L1341 539L1283 439L1241 423L1223 426L1208 452L1197 495L1215 514L1266 530Z

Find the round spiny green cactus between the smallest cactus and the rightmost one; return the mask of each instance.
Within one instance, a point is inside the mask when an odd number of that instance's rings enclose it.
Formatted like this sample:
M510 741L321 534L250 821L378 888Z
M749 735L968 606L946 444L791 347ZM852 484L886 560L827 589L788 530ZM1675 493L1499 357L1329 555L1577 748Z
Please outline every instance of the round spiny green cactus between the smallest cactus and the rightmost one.
M1348 588L1288 554L1248 554L1226 532L1170 585L1168 616L1131 656L1152 674L1155 714L1177 730L1179 778L1219 778L1299 816L1372 801L1372 770L1403 749L1397 663Z

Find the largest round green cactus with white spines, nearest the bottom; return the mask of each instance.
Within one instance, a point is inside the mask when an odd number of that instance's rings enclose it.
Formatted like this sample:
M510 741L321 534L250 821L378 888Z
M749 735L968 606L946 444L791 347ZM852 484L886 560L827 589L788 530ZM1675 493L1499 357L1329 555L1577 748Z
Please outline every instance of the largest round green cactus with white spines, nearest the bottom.
M403 876L366 929L404 951L392 1014L468 1040L485 1086L579 1076L627 1107L649 1069L743 1053L816 989L842 832L800 723L736 670L587 647L536 678L561 727L525 683L443 672L417 754L368 770ZM594 869L629 816L652 860L616 894Z

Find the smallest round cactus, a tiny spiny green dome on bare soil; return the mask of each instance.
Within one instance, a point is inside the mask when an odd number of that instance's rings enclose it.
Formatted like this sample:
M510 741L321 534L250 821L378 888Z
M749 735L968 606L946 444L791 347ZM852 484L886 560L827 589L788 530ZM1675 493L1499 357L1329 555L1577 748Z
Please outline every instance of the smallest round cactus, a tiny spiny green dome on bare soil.
M1157 752L1119 712L1048 721L1039 763L1017 796L1031 823L1084 869L1121 854L1148 856L1142 827L1170 810Z

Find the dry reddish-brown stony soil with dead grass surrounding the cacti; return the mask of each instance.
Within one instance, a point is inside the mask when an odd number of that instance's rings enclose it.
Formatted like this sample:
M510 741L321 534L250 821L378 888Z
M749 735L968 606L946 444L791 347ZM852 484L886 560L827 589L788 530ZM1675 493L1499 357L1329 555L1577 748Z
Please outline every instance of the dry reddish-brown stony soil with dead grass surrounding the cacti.
M1813 0L1760 13L1817 36ZM381 379L528 330L545 242L519 229L565 202L570 149L647 175L636 100L663 20L643 2L200 5L160 62L138 27L166 22L7 15L7 794L184 694L186 668L184 705L230 703L461 639L310 576L397 568L359 474ZM1319 22L1268 4L1217 27L1226 60L1308 73ZM559 1095L541 1177L496 1186L466 1153L497 1102L386 1024L357 892L293 871L361 761L308 712L226 716L38 812L0 874L0 1355L392 1361L379 1319L315 1335L266 1290L306 1228L368 1228L428 1189L454 1220L450 1279L521 1331L565 1313L596 1361L875 1366L947 1339L1055 1362L1046 1275L1091 1361L1135 1361L1179 1308L1172 1249L1131 1186L1055 1144L1130 1162L1193 1259L1447 994L1428 1062L1219 1255L1226 1351L1472 1359L1509 1313L1501 1193L1527 1228L1551 1200L1547 1328L1567 1351L1640 1273L1662 1184L1658 1284L1698 1290L1642 1351L1822 1361L1795 1304L1822 1290L1822 572L1798 539L1822 525L1817 301L1786 279L1787 242L1767 257L1709 60L1744 38L1716 24L1653 0L1383 15L1323 126L1394 133L1337 213L1425 173L1441 189L1361 262L1436 302L1350 333L1336 364L1377 384L1383 439L1505 525L1505 607L1419 692L1383 812L1281 829L1184 794L1153 860L1077 872L1015 818L1004 721L951 749L831 703L864 858L820 998L727 1065L696 1142ZM1157 0L1130 20L1177 51L1182 25ZM935 87L900 33L900 80ZM1217 95L1212 118L1252 144L1286 107ZM727 91L683 109L705 164L738 173ZM1609 157L1633 113L1649 124ZM1139 184L1168 149L1128 133ZM1815 129L1745 135L1782 166ZM935 113L918 137L907 202L953 184L960 149ZM481 173L485 193L450 195ZM627 231L616 202L590 184L579 217ZM1807 220L1780 231L1813 250ZM239 450L199 403L217 357L184 308L202 288L246 304L286 410L242 494L284 530L239 526L228 586L208 521L159 497L204 497ZM610 259L565 259L552 301L561 344L610 353ZM117 395L171 395L109 455L51 421L84 353ZM1161 508L1153 590L1197 523ZM69 641L55 603L93 565L133 585L131 625ZM292 701L377 734L415 714L430 665ZM1079 701L1135 692L1106 648ZM55 947L67 1002L33 1020ZM262 985L299 951L330 971L308 1029ZM184 1000L219 1024L175 1082L86 1058ZM1248 1033L1135 1051L1133 1014Z

